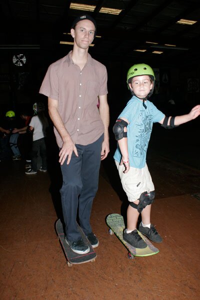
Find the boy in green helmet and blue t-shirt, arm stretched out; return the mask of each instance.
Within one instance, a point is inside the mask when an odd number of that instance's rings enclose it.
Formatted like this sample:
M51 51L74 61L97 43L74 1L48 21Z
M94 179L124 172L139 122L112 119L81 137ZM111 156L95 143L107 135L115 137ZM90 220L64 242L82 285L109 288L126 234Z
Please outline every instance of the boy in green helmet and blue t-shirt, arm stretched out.
M117 140L115 164L129 200L127 228L124 229L123 239L136 248L146 247L136 229L139 213L141 223L138 230L154 242L162 241L150 223L150 209L155 191L146 165L146 151L152 124L159 122L165 128L173 128L200 114L200 105L196 105L188 114L166 117L148 100L153 92L154 80L153 70L147 64L134 64L129 68L127 84L132 97L113 126Z

